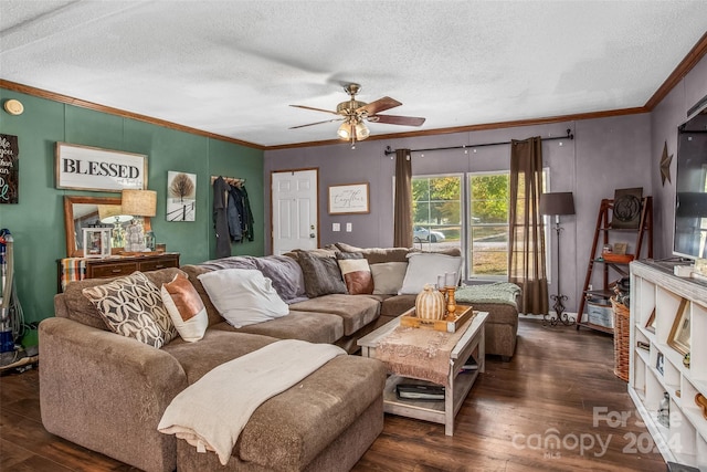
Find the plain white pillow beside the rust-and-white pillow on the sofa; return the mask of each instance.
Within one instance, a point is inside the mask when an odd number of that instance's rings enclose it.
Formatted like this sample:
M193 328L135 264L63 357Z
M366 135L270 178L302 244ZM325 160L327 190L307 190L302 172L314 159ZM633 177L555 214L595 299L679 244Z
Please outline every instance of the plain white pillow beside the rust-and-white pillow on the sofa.
M230 325L240 328L279 318L289 307L277 295L273 282L261 271L223 269L198 276L213 306Z

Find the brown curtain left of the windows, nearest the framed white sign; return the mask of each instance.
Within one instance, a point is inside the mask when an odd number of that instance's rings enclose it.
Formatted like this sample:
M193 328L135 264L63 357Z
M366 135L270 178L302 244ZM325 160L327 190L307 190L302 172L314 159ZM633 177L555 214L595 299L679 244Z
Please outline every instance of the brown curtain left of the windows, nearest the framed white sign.
M412 247L412 159L410 149L395 150L393 247Z

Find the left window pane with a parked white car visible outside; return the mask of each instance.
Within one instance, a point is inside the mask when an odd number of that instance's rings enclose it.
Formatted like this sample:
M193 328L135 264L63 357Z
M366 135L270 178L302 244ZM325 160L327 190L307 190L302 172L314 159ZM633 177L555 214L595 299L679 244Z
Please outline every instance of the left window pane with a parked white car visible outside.
M412 240L424 249L462 244L462 176L413 177Z

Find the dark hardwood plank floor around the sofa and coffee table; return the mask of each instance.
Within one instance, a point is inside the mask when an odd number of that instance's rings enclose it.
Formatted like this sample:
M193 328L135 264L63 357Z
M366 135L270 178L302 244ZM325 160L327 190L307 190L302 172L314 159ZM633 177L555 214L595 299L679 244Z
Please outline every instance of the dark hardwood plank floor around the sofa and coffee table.
M0 377L0 394L1 471L135 470L44 430L36 369ZM509 363L487 358L454 437L444 436L442 424L386 416L382 434L354 470L645 472L666 465L626 384L613 374L612 338L521 319L516 355Z

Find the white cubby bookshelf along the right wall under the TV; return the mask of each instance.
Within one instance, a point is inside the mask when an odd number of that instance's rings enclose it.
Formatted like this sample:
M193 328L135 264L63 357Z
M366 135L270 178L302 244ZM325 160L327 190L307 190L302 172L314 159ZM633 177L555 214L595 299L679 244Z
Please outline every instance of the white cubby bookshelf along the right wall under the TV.
M629 394L663 458L707 472L707 419L695 402L698 394L707 396L707 283L674 275L669 263L636 261L630 269ZM668 344L683 300L690 315L689 367ZM654 312L654 328L650 329L646 325ZM656 367L659 355L663 373ZM664 392L671 398L668 427L657 421Z

